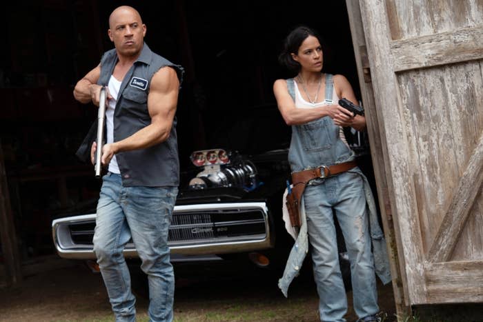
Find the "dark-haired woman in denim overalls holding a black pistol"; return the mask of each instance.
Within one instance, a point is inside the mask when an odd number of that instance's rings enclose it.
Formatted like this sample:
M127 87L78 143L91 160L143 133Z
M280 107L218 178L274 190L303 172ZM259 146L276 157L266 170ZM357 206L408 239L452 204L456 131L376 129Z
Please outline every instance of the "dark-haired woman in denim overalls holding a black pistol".
M292 125L288 152L291 193L295 197L300 194L301 219L279 288L287 295L288 285L297 276L310 244L320 319L346 321L347 299L339 268L335 214L351 261L358 321L380 321L375 271L384 283L391 281L386 245L377 223L371 188L357 167L342 130L347 126L362 130L366 119L338 105L342 98L353 103L357 100L346 77L321 72L321 43L317 33L306 26L290 32L279 63L295 77L278 79L273 85L280 113Z

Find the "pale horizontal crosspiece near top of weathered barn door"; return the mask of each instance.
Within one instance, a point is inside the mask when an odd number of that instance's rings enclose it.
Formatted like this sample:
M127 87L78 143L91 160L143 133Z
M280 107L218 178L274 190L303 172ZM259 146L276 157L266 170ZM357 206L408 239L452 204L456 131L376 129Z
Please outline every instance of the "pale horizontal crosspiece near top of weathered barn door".
M391 42L396 72L483 58L483 27Z

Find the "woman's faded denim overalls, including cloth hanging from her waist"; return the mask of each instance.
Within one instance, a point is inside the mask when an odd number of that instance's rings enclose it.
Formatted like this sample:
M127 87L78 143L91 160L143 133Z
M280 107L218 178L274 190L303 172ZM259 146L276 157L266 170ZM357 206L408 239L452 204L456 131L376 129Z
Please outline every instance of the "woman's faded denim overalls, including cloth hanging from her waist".
M287 80L295 101L293 79ZM333 77L326 74L325 103L332 103ZM331 117L293 125L288 161L293 172L353 161L354 152L339 137L339 127ZM344 234L353 285L354 310L359 318L379 311L375 271L384 283L391 281L384 236L377 222L375 203L366 177L353 168L306 186L302 198L302 226L290 252L279 288L287 296L290 282L297 276L311 245L314 279L319 294L321 321L346 321L347 299L339 268L339 252L333 212ZM369 230L371 228L371 233ZM373 240L374 254L371 252ZM377 268L375 270L375 259Z

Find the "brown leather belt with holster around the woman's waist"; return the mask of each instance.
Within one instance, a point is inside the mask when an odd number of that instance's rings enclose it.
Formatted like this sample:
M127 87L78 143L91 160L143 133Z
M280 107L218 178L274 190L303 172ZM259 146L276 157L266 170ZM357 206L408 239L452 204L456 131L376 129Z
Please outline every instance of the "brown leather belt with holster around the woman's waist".
M291 193L287 194L286 197L286 205L288 210L288 215L290 217L290 223L292 223L293 227L299 228L300 223L300 199L302 198L302 194L304 194L305 186L307 185L308 181L317 178L327 178L334 176L335 174L339 174L342 172L346 172L347 170L351 170L355 168L357 163L355 161L349 161L344 163L339 163L335 165L322 165L319 168L311 169L311 170L304 170L299 172L293 172L292 174L292 191Z

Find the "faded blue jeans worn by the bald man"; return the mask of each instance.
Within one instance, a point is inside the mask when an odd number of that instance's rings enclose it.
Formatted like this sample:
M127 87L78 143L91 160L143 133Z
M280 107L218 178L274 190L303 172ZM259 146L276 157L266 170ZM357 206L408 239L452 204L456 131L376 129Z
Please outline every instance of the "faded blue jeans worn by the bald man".
M93 243L116 321L135 321L135 296L122 254L131 238L148 274L150 321L172 321L175 276L168 229L176 196L177 187L123 187L119 174L103 177Z

